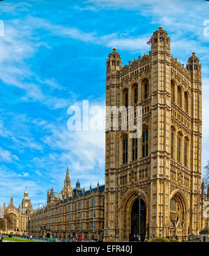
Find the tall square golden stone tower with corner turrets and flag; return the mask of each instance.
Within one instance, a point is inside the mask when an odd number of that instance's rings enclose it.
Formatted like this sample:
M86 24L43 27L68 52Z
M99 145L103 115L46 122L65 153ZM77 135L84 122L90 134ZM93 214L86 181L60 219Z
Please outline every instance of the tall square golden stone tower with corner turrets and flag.
M142 135L106 131L104 239L199 234L201 220L201 64L171 56L170 38L159 27L148 55L122 67L113 48L107 59L107 106L141 106ZM126 116L125 116L126 117ZM109 119L109 116L107 116ZM128 119L126 118L125 121Z

